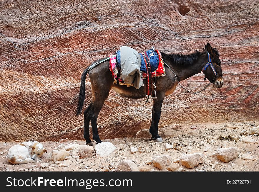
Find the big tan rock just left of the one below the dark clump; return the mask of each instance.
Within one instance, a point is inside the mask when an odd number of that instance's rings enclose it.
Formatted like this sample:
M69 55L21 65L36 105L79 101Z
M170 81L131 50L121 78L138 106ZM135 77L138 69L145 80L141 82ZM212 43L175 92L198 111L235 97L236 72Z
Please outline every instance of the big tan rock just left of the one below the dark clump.
M187 168L193 168L199 163L203 163L204 155L201 153L185 154L181 157L181 163Z

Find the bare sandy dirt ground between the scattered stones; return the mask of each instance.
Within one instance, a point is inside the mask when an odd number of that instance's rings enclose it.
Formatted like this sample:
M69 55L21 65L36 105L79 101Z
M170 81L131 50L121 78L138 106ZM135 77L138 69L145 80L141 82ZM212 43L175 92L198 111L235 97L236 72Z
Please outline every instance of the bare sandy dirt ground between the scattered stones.
M163 142L154 142L150 139L140 138L119 138L109 141L114 144L118 150L110 157L97 158L88 157L85 159L79 159L78 157L71 157L72 164L67 167L48 167L41 168L41 164L46 162L45 157L47 154L60 145L59 142L41 142L43 146L48 150L48 153L42 156L39 162L12 165L7 162L5 156L9 148L19 143L17 142L0 142L0 171L102 171L104 166L110 166L110 171L113 171L117 164L121 160L132 160L137 166L144 165L147 160L151 160L155 155L167 154L172 157L172 160L179 159L182 154L191 154L199 152L205 155L205 161L202 164L197 165L192 169L188 169L181 165L179 167L182 171L259 171L258 159L259 159L259 136L252 135L255 139L253 143L245 143L240 141L241 138L248 135L240 135L242 130L247 132L250 128L259 125L259 121L250 122L227 122L227 123L205 123L195 125L167 125L159 128L160 135L163 138ZM218 138L231 135L233 141L219 140ZM84 145L85 141L68 140L64 144L78 142L80 145ZM93 142L95 145L95 142ZM166 143L175 144L178 149L166 150ZM130 148L141 148L142 153L137 152L131 154ZM216 159L216 156L210 157L218 148L237 147L238 157L231 160L228 163L223 163ZM242 154L249 153L253 155L251 160L241 159ZM218 162L220 164L215 164ZM173 162L172 162L173 164ZM161 171L153 166L149 165L152 169ZM164 169L162 171L168 171Z

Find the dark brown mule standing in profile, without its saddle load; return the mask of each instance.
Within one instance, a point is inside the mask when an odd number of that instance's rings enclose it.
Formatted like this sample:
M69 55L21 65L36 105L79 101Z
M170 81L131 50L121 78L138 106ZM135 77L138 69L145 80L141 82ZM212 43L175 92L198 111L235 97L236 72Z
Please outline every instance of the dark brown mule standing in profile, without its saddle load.
M152 135L151 139L155 142L162 142L162 138L158 134L158 122L164 97L175 90L178 82L203 71L205 79L207 78L211 83L213 83L215 88L223 86L223 75L221 71L219 52L216 48L212 48L210 43L205 45L203 52L196 50L195 53L189 55L165 54L161 52L161 56L165 64L166 75L164 77L156 78L157 99L153 100L152 121L149 129ZM97 60L91 65L102 60L103 59ZM88 73L88 68L84 70L81 77L77 115L80 115L84 104L85 79ZM86 145L93 145L89 136L89 123L91 121L93 139L97 144L102 142L98 135L97 118L104 101L109 96L110 90L113 89L121 96L128 98L144 98L146 97L147 82L146 79L144 79L144 86L140 89L135 89L133 86L127 87L124 85L114 84L114 79L109 70L109 61L103 62L93 68L89 72L89 79L92 86L92 101L84 111L84 138L86 140ZM152 78L152 82L154 82L154 78ZM152 89L154 92L154 87Z

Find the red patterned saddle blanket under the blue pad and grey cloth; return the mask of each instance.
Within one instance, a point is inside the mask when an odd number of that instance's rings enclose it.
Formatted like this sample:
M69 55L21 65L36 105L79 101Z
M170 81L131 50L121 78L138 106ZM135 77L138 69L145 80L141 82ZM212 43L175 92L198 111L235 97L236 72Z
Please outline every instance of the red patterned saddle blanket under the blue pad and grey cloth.
M155 50L158 53L159 56L159 64L157 69L151 73L151 77L161 77L161 76L165 76L165 67L164 67L164 63L161 59L161 55L160 52L158 50ZM112 77L114 78L114 83L116 84L121 84L121 85L126 85L124 84L122 77L121 77L121 72L120 69L118 69L117 67L115 67L116 65L116 55L110 55L110 66L109 69L111 71ZM147 74L145 72L141 72L142 73L142 79L145 79L147 77ZM133 86L133 85L131 85Z

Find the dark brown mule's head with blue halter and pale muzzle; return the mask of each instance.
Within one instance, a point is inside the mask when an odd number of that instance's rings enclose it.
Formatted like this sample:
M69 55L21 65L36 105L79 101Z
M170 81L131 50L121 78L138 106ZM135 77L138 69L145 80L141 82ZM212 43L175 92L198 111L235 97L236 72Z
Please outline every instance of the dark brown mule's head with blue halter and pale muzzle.
M217 49L212 48L210 43L207 43L204 47L206 51L206 59L204 61L204 67L202 72L205 74L205 78L208 78L212 82L215 88L223 86L223 75L221 70L221 62L219 59L219 52Z

